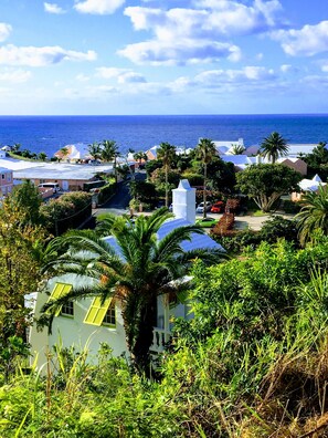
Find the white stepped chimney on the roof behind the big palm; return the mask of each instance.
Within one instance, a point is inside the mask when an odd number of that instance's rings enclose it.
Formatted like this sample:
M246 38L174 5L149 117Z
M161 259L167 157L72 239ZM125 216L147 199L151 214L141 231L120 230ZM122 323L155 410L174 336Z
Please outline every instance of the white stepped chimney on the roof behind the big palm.
M195 221L195 188L190 187L188 179L181 179L179 187L172 190L172 211L176 218Z

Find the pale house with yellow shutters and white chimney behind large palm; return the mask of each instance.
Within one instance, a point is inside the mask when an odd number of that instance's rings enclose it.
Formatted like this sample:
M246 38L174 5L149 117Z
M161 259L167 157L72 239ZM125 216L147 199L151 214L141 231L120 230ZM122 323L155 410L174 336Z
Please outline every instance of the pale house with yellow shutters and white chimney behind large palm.
M158 239L163 239L177 227L194 223L195 189L190 187L188 180L180 181L179 187L173 190L173 213L176 218L162 225L158 232ZM108 236L105 240L119 254L119 248L114 237ZM184 250L197 248L222 249L208 234L192 234L191 241L183 242L182 248ZM49 283L51 296L59 298L61 294L67 293L72 285L78 282L81 282L81 278L74 278L73 275L53 279ZM34 314L38 316L42 305L49 298L45 293L36 293L34 299ZM158 298L157 314L155 316L156 326L151 352L159 353L171 336L172 316L190 319L191 315L187 305L178 304L172 307L167 300ZM96 354L100 343L106 342L113 348L115 356L127 353L120 305L112 299L106 300L104 303L98 298L84 299L62 306L54 317L52 334L49 334L46 328L39 332L34 324L31 327L29 341L31 351L38 353L35 356L39 366L45 364L46 352L59 342L62 343L63 347L75 345L76 348L87 344L92 354Z

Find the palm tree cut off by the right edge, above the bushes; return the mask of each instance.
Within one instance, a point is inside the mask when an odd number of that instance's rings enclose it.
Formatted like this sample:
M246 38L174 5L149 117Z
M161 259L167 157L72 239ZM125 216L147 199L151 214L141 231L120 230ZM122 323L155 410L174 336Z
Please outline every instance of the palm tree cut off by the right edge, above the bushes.
M317 229L328 234L328 186L319 186L317 192L308 191L301 202L304 206L296 215L296 220L299 240L304 246L311 240Z

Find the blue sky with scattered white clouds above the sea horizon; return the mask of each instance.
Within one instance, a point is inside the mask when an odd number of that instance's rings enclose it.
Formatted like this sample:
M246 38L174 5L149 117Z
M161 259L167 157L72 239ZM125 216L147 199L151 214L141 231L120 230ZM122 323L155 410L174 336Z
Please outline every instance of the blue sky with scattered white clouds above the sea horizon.
M0 0L0 114L328 113L326 0Z

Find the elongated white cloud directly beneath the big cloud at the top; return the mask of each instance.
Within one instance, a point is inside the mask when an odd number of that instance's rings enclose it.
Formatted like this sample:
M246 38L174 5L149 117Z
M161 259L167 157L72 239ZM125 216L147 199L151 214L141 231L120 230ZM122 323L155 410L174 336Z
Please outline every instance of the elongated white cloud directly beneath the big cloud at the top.
M207 40L180 40L176 44L162 41L146 41L128 44L118 54L136 64L150 63L152 65L197 64L212 62L221 58L239 61L240 49L230 43Z

